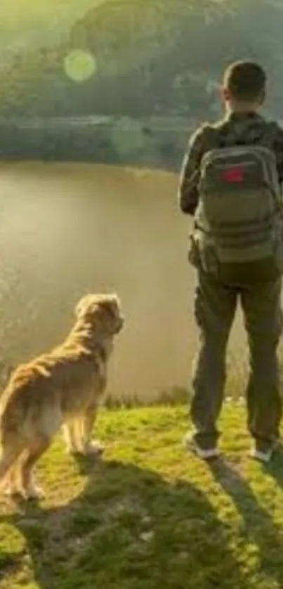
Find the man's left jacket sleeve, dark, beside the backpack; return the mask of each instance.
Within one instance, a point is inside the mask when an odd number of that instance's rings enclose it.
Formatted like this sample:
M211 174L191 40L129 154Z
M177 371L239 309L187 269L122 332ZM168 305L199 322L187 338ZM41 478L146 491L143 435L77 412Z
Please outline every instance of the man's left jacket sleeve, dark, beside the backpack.
M197 129L190 137L183 159L178 184L178 204L183 213L194 215L199 201L197 184L199 167L204 155L204 129Z

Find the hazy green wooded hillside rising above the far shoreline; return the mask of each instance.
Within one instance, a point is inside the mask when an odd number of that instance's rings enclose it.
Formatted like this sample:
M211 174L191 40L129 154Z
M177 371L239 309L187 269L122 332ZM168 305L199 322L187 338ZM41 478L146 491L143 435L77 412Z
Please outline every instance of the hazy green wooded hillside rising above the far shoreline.
M8 62L0 115L214 116L223 67L242 57L268 67L268 109L281 115L282 24L277 0L105 0L82 8L62 43L31 43ZM98 63L84 84L62 67L74 48Z

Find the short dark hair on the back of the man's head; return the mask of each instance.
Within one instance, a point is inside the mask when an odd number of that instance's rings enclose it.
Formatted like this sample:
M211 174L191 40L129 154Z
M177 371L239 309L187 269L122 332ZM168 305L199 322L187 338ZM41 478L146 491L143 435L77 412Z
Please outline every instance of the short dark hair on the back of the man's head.
M223 85L237 101L256 101L265 92L266 74L257 63L236 61L225 70Z

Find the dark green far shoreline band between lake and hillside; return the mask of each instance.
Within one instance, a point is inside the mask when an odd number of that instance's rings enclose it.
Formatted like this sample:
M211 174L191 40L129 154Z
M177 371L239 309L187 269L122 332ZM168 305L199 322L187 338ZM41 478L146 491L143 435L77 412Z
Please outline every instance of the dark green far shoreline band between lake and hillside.
M180 168L195 121L185 117L0 117L0 160Z

